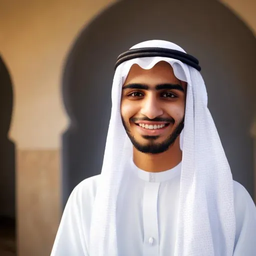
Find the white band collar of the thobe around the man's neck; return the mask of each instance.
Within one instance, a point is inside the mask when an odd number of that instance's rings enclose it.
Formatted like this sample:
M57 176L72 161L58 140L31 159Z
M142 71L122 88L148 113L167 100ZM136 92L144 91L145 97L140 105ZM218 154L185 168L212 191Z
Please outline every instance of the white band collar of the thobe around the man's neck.
M181 162L171 169L160 171L160 172L149 172L149 171L142 170L135 165L133 160L131 160L131 166L132 166L131 169L133 170L133 172L137 177L148 182L167 181L176 177L181 173Z

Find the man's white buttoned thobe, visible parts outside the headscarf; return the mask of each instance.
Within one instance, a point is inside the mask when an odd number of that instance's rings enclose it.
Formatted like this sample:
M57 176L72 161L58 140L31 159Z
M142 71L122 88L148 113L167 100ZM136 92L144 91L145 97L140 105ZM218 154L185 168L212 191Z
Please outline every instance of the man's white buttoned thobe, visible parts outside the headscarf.
M143 171L132 161L127 167L129 171L117 198L118 255L174 255L181 163L157 173ZM73 189L51 256L89 256L92 205L99 178L100 175L89 177ZM233 187L236 220L233 255L255 256L256 207L241 184L234 181Z

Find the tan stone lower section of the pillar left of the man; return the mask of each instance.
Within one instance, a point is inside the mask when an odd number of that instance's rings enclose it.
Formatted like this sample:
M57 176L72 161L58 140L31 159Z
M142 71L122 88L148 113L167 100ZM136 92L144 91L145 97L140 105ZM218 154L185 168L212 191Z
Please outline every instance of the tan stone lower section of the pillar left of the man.
M17 152L19 256L50 254L60 220L58 150Z

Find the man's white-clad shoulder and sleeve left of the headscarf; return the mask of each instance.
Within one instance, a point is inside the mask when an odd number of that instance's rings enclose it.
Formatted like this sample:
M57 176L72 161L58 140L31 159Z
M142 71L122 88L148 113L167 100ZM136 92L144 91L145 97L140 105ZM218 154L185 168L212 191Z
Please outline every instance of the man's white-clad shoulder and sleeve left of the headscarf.
M88 255L92 206L100 175L84 179L68 197L51 255Z

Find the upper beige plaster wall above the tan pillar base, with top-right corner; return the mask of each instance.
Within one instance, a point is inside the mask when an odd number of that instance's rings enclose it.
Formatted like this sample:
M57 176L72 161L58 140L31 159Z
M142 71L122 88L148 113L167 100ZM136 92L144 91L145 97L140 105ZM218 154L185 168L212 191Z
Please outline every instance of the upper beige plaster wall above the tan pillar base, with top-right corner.
M62 64L77 33L114 0L0 0L0 51L14 82L10 137L19 148L58 148L68 118ZM256 35L256 1L222 0Z

